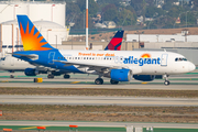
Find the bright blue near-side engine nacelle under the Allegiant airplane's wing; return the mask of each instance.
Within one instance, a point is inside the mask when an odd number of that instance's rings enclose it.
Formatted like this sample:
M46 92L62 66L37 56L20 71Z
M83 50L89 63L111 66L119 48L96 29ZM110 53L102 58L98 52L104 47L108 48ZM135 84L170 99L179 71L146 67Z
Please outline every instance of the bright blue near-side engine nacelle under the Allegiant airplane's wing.
M111 69L110 77L117 81L130 81L132 72L130 69Z

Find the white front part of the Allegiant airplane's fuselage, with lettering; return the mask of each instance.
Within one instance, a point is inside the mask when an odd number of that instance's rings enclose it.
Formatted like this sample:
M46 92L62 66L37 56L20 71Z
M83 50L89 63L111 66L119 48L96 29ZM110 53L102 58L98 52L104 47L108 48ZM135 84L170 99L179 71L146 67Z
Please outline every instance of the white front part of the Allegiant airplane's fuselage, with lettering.
M129 68L133 75L173 75L188 73L195 65L172 52L145 51L59 51L68 62ZM59 58L61 59L61 58ZM78 66L76 66L78 68ZM90 67L89 67L90 68ZM78 68L86 72L85 68ZM87 73L89 73L87 70Z

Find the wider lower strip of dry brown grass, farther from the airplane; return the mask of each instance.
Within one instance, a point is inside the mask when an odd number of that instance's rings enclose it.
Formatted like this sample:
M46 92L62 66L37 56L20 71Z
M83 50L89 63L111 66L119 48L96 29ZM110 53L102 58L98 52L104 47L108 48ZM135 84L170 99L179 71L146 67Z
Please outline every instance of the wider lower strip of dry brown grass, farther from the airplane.
M198 107L1 105L0 120L198 123Z

